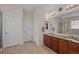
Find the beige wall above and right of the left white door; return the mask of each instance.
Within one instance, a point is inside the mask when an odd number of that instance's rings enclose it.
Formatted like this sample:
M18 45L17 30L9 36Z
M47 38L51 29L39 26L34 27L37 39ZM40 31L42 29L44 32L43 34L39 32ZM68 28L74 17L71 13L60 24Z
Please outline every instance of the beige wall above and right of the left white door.
M3 14L11 14L19 16L20 19L20 43L23 41L23 9L16 5L0 5L0 11Z

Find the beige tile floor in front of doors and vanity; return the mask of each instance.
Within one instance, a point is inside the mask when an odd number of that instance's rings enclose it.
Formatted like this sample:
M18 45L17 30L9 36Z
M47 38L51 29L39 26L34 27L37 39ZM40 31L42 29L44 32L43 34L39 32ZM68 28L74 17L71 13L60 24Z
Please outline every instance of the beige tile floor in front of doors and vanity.
M26 42L23 45L9 47L0 52L1 54L56 54L46 46L37 46L34 42Z

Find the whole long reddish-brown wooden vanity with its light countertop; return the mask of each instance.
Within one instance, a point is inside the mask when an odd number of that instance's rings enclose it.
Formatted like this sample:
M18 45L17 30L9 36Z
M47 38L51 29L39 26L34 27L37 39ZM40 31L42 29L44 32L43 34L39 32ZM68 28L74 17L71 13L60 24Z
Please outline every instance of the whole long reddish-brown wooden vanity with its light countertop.
M44 45L59 54L78 54L79 41L68 36L44 33Z

